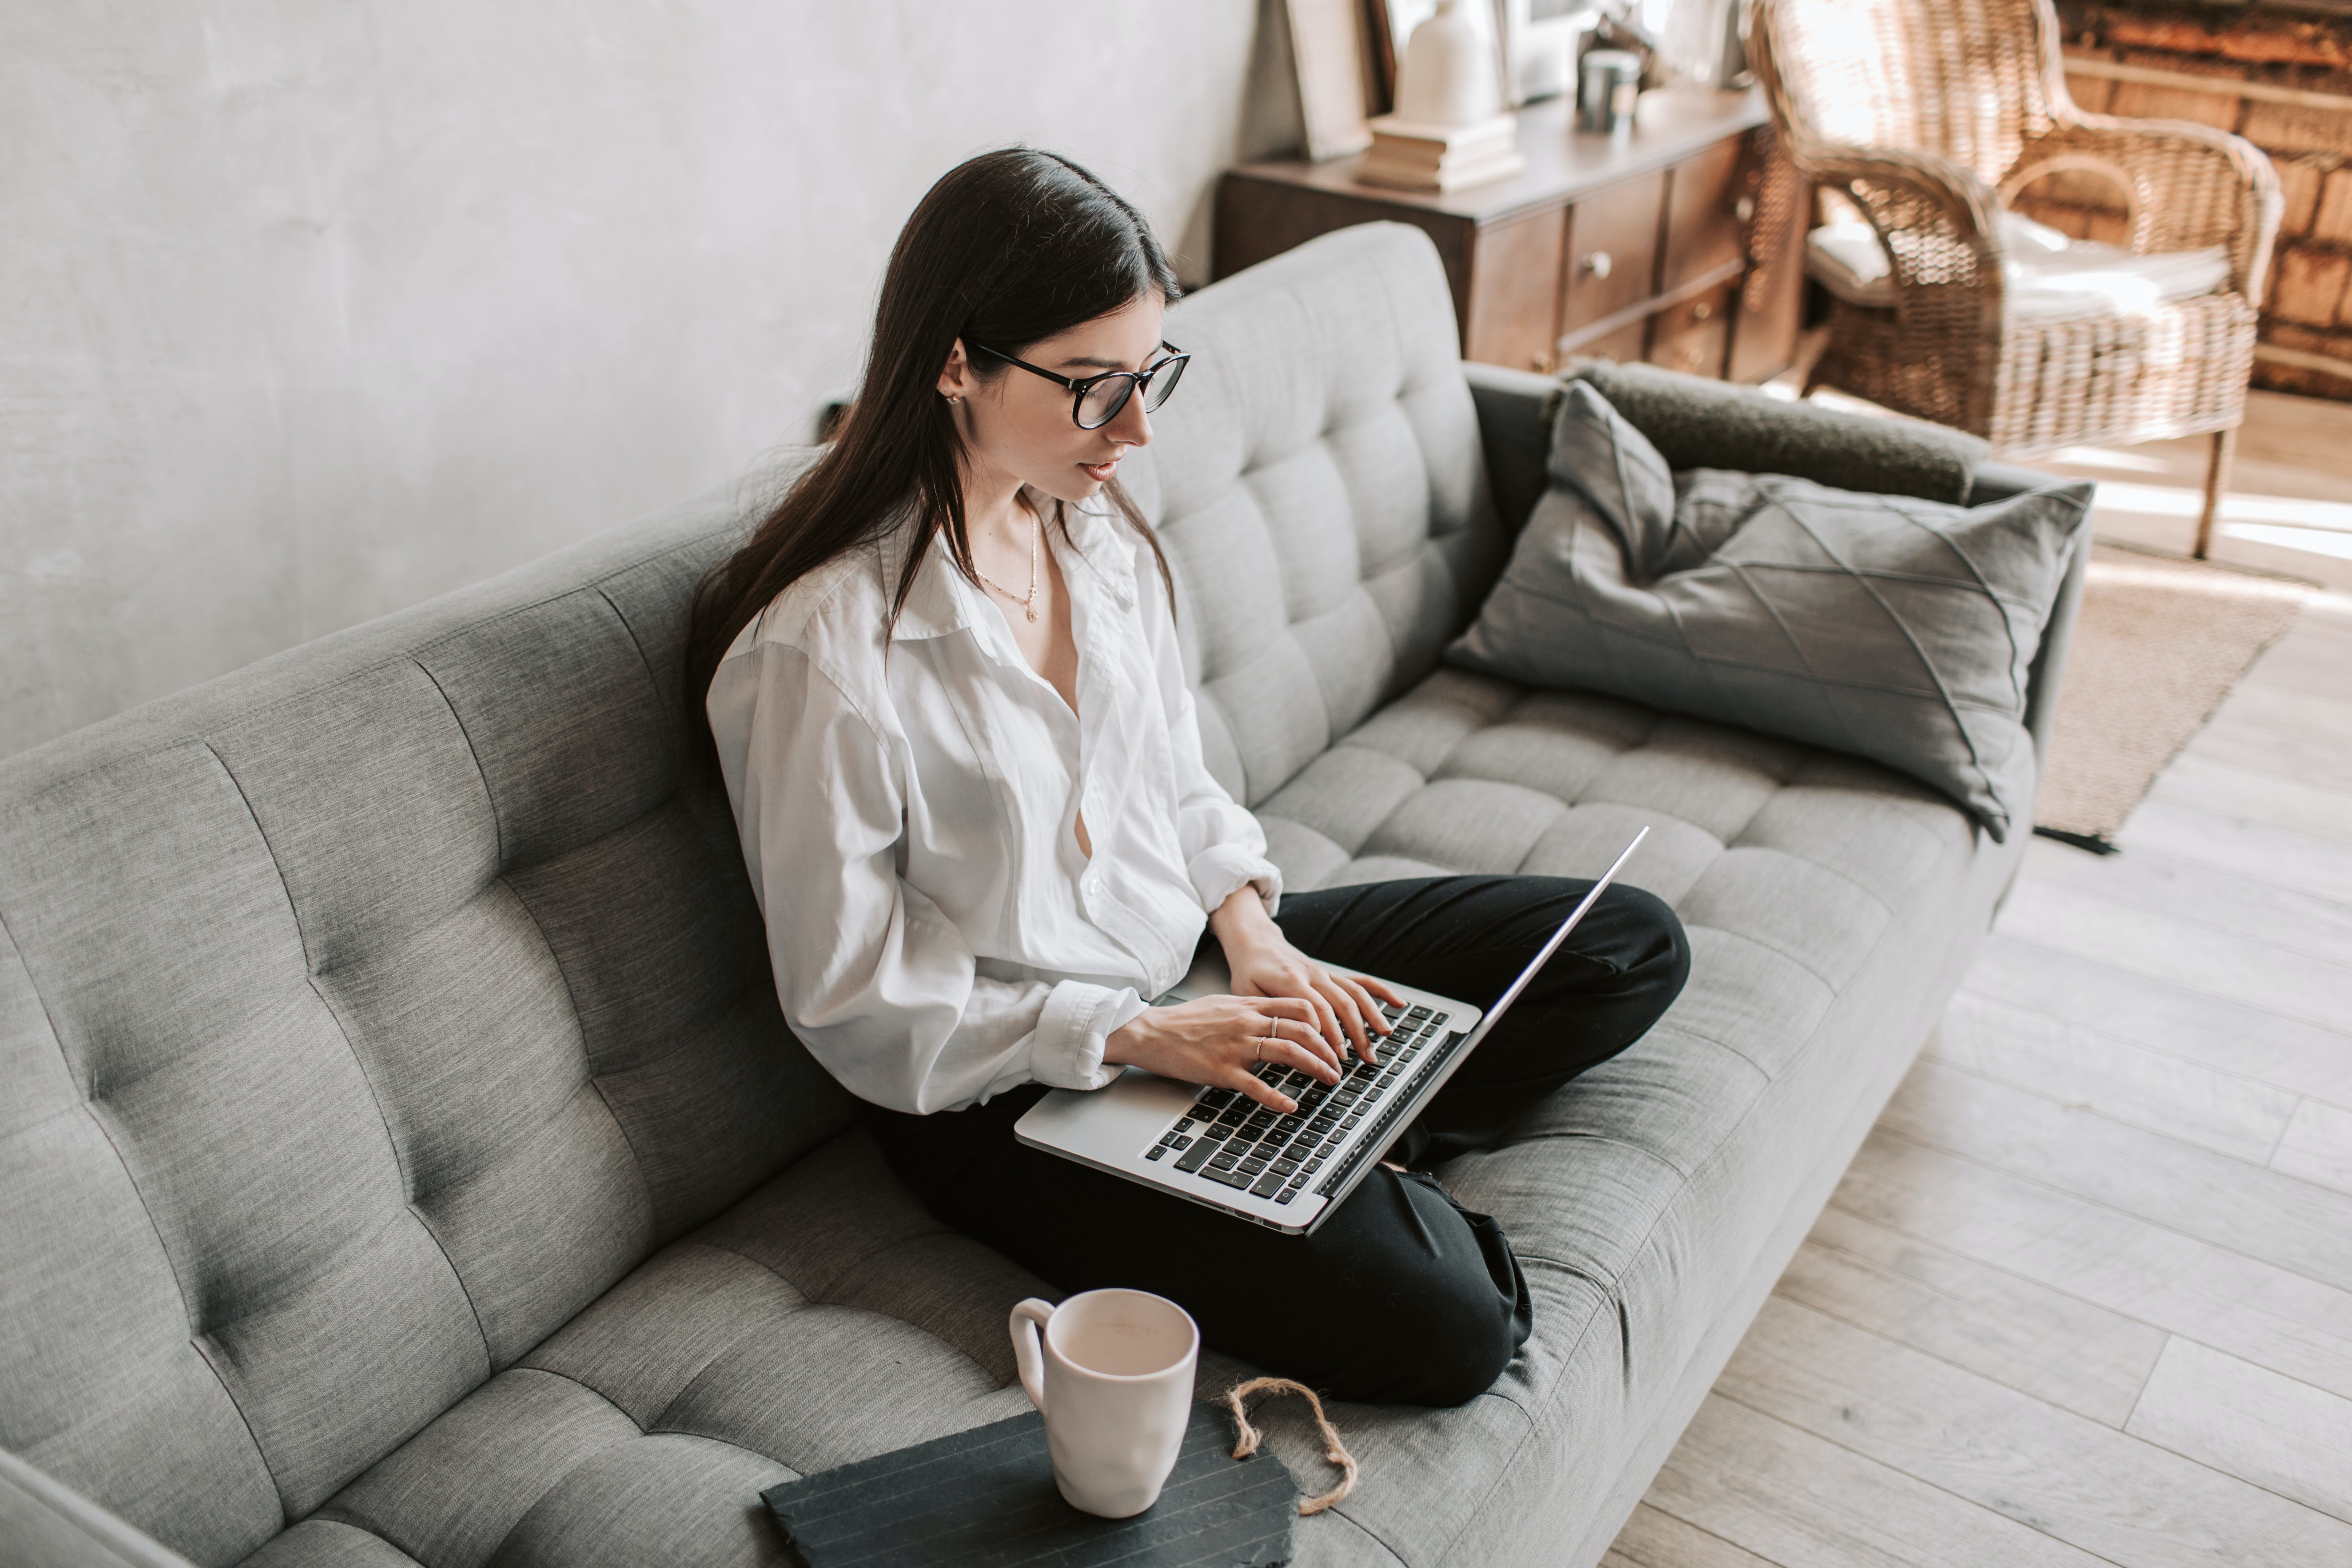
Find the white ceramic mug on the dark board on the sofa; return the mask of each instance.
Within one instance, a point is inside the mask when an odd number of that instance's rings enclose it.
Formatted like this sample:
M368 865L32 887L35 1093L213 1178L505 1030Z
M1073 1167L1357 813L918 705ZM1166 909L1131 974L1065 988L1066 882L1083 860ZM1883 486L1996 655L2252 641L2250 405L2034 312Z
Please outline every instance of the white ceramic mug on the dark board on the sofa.
M1011 1331L1070 1507L1127 1519L1160 1502L1192 1415L1192 1314L1148 1291L1082 1291L1058 1307L1033 1295Z

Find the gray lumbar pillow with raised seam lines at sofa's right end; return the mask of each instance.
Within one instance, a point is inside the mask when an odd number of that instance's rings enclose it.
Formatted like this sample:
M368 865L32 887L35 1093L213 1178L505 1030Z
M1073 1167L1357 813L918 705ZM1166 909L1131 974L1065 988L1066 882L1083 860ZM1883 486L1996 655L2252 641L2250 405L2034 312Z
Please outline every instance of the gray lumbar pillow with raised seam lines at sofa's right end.
M2025 672L2091 484L1964 508L1677 477L1588 383L1562 397L1550 470L1451 663L1858 752L1994 839L2025 816Z

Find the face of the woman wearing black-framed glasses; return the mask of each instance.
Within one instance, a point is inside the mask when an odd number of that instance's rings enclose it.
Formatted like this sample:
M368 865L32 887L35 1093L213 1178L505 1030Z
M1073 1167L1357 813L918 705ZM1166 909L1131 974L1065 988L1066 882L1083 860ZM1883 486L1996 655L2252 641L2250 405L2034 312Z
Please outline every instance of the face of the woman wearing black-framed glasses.
M1028 348L1009 343L995 348L1018 353L1030 364L1070 381L1112 369L1141 371L1164 357L1160 353L1164 315L1167 303L1157 294L1143 294L1110 315ZM1152 440L1141 397L1129 397L1120 416L1101 430L1080 430L1070 418L1065 388L990 355L978 355L978 367L995 371L983 381L971 374L974 362L964 350L967 346L957 343L948 355L938 390L962 397L962 430L976 480L1014 480L1058 501L1087 501L1110 482L1122 456Z

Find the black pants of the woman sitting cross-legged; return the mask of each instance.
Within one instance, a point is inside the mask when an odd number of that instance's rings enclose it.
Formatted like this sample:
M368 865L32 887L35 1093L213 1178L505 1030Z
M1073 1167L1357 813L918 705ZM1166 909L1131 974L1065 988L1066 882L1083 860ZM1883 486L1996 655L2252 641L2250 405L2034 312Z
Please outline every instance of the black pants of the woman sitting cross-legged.
M1334 969L1479 1006L1543 947L1590 882L1430 877L1291 893L1277 924ZM931 1213L1063 1291L1181 1302L1204 1342L1341 1399L1456 1406L1494 1385L1534 1324L1503 1229L1428 1166L1510 1121L1668 1009L1691 952L1658 898L1611 886L1378 1168L1310 1237L1284 1237L1014 1140L1025 1084L934 1117L868 1107Z

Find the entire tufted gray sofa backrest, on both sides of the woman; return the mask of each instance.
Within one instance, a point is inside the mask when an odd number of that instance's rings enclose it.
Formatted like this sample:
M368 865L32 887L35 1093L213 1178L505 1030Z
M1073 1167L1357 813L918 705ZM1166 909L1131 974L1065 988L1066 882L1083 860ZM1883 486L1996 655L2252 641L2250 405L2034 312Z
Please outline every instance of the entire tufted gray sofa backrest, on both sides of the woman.
M1134 484L1261 799L1501 538L1418 230L1171 336ZM682 762L687 599L769 489L0 762L0 1448L235 1561L849 1126Z

